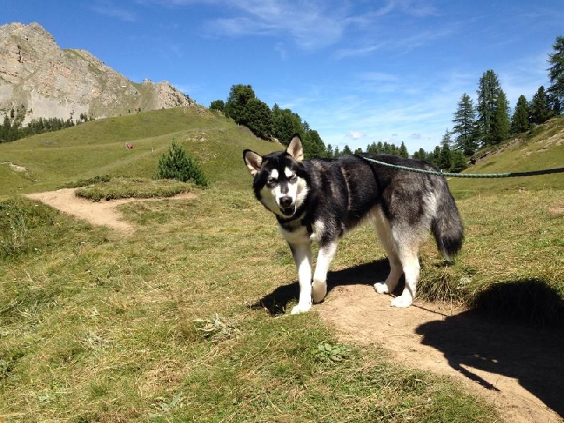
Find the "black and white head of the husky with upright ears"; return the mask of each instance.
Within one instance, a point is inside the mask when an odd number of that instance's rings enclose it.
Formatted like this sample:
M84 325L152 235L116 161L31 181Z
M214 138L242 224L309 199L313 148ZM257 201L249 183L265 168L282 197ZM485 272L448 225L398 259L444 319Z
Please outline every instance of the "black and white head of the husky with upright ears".
M253 176L257 200L282 218L292 217L307 195L302 140L295 135L283 152L261 156L245 149L243 159Z

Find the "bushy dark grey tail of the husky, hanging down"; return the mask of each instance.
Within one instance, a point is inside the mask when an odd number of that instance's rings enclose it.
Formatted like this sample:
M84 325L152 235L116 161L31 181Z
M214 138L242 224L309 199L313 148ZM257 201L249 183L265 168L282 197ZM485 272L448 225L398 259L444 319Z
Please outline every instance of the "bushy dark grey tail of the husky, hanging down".
M435 237L437 248L447 262L453 262L455 255L462 248L464 230L458 207L446 182L438 195L436 214L431 221L431 232Z

